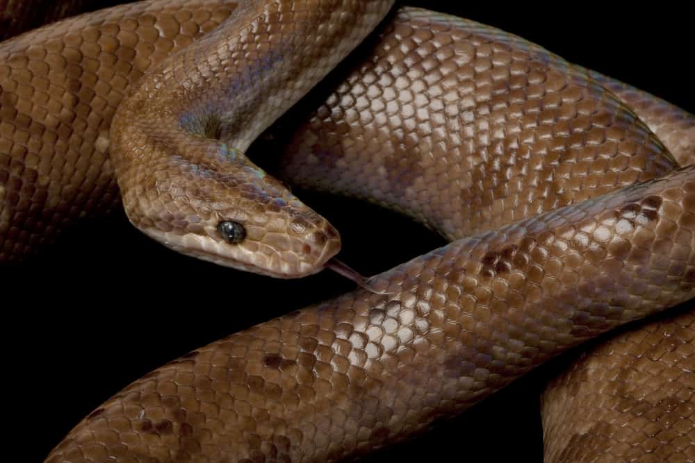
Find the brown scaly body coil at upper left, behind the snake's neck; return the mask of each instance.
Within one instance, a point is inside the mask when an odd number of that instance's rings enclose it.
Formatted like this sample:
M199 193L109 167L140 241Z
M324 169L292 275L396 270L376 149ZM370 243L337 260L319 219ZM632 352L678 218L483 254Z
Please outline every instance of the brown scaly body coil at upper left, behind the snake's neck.
M152 63L227 19L236 2L188 5L101 10L3 44L0 260L120 203L108 147L124 92Z

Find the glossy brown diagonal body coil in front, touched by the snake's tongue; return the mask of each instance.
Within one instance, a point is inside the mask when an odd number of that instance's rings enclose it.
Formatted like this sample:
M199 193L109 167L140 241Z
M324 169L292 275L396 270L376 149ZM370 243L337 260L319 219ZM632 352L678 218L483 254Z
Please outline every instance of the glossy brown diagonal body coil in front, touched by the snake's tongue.
M461 239L182 357L47 462L331 461L399 441L695 295L695 167ZM675 232L678 242L661 230Z

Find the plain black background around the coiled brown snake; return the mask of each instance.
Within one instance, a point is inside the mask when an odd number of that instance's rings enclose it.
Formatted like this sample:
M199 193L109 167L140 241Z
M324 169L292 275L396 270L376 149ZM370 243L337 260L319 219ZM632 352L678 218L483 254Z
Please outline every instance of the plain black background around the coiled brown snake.
M688 14L608 2L554 8L407 1L498 26L567 60L695 110ZM632 7L631 7L632 8ZM301 193L301 192L300 192ZM311 194L300 197L343 236L341 257L373 274L443 242L407 219ZM272 280L174 254L122 214L70 230L40 258L0 269L5 418L40 461L83 416L131 381L204 344L352 289L332 273ZM538 401L548 369L373 461L541 461ZM7 436L7 435L6 435ZM6 444L7 445L7 444Z

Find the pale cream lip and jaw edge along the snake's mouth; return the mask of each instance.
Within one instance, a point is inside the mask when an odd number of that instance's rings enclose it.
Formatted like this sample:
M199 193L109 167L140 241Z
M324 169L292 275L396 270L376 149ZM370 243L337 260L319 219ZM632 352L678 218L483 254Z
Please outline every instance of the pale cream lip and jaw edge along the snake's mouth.
M340 235L329 237L318 251L310 254L293 251L276 251L271 246L254 243L254 250L244 244L229 244L204 235L188 233L179 235L161 230L143 230L144 233L167 248L193 258L212 262L272 278L302 278L327 268L329 262L341 250ZM259 247L267 248L259 251Z

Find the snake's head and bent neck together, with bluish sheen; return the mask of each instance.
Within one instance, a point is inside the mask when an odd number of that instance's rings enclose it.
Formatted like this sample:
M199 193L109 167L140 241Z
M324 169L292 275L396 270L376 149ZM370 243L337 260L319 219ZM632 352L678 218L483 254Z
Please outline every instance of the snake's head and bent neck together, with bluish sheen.
M111 130L131 222L171 249L228 267L279 278L322 270L341 247L337 231L244 151L392 3L248 2L145 76Z

